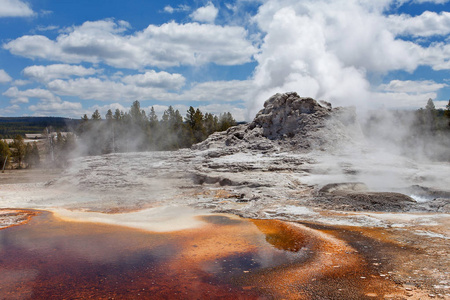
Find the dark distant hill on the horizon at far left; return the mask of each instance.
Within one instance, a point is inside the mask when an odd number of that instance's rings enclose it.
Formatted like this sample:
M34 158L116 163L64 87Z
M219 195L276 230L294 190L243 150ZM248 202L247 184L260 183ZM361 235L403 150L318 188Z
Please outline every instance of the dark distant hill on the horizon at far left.
M72 131L80 120L61 117L0 117L0 138L14 138L25 133L42 133L46 127L54 131Z

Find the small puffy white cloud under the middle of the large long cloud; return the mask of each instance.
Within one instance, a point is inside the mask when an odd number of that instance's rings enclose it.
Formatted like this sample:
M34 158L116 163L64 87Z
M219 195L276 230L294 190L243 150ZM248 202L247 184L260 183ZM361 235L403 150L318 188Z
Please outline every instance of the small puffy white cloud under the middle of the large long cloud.
M170 74L167 72L147 71L144 74L125 76L122 81L129 85L138 87L156 87L167 90L179 90L186 82L181 74Z

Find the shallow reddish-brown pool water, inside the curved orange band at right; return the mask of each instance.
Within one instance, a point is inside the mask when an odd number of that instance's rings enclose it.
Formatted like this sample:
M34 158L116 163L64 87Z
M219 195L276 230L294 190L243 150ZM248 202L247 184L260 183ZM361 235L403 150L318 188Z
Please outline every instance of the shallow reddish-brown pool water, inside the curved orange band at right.
M240 277L292 261L251 222L202 216L195 230L155 233L66 222L43 212L0 231L0 298L252 298Z

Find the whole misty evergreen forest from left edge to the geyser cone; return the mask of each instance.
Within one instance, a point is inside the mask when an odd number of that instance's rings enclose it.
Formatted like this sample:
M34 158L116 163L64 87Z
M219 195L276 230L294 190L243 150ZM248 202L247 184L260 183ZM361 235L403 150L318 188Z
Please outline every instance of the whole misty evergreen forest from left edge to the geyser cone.
M16 134L9 144L0 140L0 162L5 166L22 168L37 166L42 158L61 167L69 158L76 156L172 151L189 148L216 131L236 125L229 112L215 116L204 114L192 106L185 117L169 106L159 119L153 107L147 115L139 101L134 101L127 112L116 109L113 113L108 110L102 118L95 110L90 117L85 114L76 121L71 121L70 126L59 127L73 128L71 132L61 132L58 127L52 126L42 129L40 133L44 138L39 146L37 143L25 143L21 134Z

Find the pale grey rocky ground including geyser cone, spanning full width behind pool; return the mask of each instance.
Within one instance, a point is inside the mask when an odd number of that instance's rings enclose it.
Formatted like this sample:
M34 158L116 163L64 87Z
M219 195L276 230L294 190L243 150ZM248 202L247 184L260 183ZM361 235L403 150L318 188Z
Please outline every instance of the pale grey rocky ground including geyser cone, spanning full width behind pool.
M352 109L288 93L193 149L83 157L52 180L0 184L0 205L108 214L189 206L331 226L355 248L354 234L372 241L359 251L383 253L372 263L408 297L444 298L449 172L448 163L375 150Z

